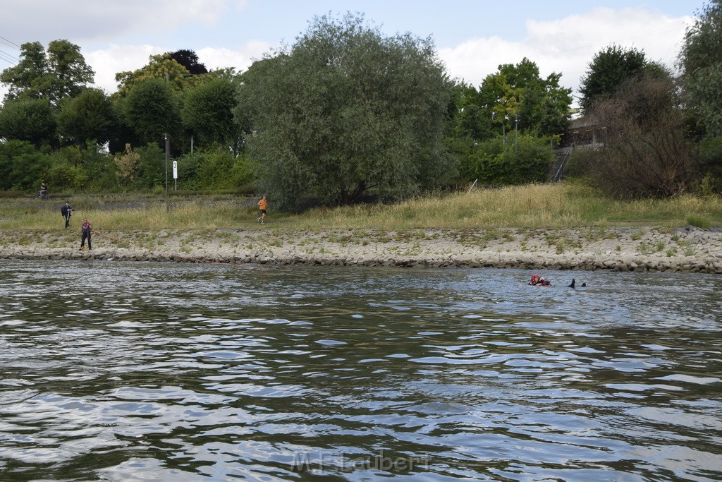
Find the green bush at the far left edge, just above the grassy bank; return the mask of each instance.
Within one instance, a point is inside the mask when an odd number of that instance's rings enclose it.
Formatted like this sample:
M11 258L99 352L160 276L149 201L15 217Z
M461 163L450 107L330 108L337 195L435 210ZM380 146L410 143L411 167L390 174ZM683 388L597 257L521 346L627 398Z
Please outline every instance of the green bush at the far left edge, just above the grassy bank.
M0 189L35 191L43 179L52 188L48 168L47 156L35 150L30 142L0 142Z

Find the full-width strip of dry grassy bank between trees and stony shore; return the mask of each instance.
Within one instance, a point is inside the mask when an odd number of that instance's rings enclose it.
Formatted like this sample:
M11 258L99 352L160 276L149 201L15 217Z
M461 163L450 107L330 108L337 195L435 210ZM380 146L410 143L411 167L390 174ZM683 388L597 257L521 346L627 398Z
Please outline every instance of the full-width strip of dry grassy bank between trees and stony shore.
M399 230L409 228L574 228L605 225L722 225L720 197L615 201L574 184L513 186L425 197L394 205L360 205L316 209L301 215L274 211L268 224L256 223L255 200L232 196L178 199L158 196L137 207L107 198L71 199L72 222L88 218L108 231L162 229L290 228ZM0 199L0 229L62 230L61 202Z

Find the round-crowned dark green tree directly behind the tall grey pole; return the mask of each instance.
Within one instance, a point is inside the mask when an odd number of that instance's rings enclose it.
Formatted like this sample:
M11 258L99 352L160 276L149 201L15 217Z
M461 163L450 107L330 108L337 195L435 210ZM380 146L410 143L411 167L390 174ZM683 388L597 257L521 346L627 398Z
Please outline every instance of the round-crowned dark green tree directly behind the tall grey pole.
M172 137L181 124L177 95L162 79L146 79L134 85L120 102L123 122L142 142L162 145L165 134Z

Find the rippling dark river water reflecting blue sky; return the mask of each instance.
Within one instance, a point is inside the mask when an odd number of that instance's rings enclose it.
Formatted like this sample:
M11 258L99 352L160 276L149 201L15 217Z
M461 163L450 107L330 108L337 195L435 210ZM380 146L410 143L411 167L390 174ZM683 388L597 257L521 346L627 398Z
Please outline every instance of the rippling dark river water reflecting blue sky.
M531 274L1 260L0 480L720 480L722 277Z

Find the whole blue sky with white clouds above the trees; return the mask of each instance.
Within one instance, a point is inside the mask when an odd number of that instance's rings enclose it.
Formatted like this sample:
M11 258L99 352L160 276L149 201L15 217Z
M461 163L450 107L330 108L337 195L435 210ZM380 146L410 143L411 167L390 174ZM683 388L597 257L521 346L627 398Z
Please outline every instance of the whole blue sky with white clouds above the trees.
M243 71L282 43L293 43L314 16L360 12L388 35L431 36L451 77L472 85L499 64L523 57L542 76L562 73L578 88L594 53L616 43L669 66L703 0L23 0L0 20L0 69L25 42L64 38L81 47L95 83L116 90L117 72L139 69L151 54L189 48L209 68ZM0 93L2 87L0 87Z

